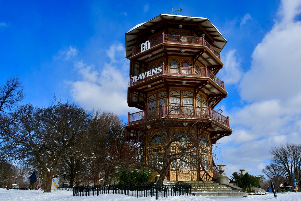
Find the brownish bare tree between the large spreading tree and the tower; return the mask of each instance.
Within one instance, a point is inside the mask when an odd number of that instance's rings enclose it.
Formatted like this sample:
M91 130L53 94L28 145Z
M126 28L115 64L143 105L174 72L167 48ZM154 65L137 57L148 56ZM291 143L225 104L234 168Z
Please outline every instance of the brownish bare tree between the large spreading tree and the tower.
M89 147L86 147L85 153L89 154L89 179L95 184L99 180L108 183L120 160L131 158L135 152L126 141L124 131L120 118L111 112L97 111L91 119L86 138Z

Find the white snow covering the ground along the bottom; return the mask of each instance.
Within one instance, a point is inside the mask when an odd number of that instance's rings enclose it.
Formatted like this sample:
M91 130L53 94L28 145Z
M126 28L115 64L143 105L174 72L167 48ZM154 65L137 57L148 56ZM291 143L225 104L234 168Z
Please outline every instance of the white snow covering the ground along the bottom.
M119 194L103 194L99 196L81 196L75 197L72 191L52 191L43 193L41 190L6 190L0 189L0 201L155 201L155 197L131 197ZM229 197L229 196L173 196L168 198L159 198L164 201L301 201L301 193L278 193L277 198L273 194L256 195L247 197Z

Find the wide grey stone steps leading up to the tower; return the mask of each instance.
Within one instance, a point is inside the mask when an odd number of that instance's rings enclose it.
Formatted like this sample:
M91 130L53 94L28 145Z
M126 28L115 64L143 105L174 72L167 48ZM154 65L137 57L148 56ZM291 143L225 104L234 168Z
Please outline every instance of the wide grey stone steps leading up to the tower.
M176 181L167 181L167 185L174 185ZM232 184L223 184L215 181L188 181L192 186L192 196L247 196L242 188Z

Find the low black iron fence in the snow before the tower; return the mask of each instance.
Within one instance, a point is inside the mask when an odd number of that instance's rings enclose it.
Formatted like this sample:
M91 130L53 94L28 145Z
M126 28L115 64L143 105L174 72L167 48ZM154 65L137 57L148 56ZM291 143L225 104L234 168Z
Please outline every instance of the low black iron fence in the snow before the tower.
M94 196L99 194L124 194L135 197L191 196L191 185L101 185L73 187L73 196Z

